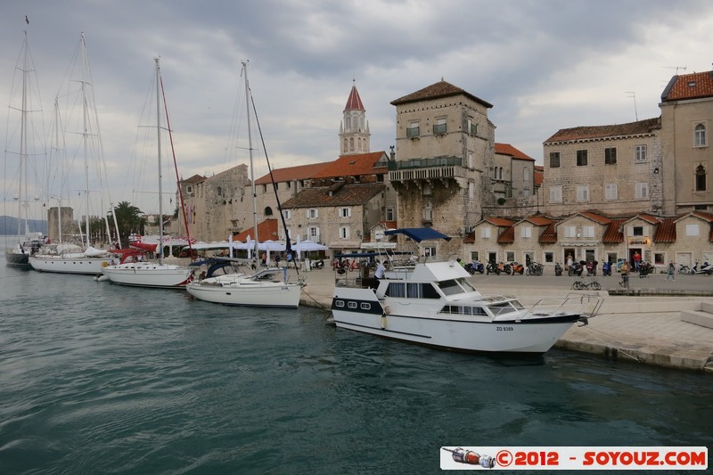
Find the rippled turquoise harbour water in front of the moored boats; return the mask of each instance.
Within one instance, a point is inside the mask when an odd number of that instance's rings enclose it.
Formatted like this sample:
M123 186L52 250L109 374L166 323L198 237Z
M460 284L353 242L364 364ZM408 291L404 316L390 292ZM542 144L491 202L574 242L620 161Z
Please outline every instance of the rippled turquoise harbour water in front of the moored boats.
M711 375L462 355L0 267L0 473L432 473L441 446L713 446Z

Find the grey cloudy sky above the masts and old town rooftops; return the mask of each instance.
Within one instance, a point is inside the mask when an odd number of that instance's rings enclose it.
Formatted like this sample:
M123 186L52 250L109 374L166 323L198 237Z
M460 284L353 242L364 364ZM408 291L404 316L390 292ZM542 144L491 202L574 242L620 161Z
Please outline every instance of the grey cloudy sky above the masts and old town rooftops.
M0 97L27 29L45 123L84 32L114 201L138 200L124 168L155 56L184 177L247 162L226 152L245 59L275 168L337 158L353 79L373 151L395 144L389 102L444 78L494 104L496 141L541 163L560 128L657 117L676 68L713 61L709 0L8 0L0 12Z

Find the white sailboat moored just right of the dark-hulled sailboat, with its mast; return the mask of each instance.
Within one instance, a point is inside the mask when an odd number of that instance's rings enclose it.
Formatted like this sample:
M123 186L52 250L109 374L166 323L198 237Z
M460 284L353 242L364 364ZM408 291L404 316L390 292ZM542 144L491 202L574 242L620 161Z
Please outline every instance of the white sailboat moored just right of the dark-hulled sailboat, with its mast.
M113 256L107 250L97 249L91 244L92 233L90 229L90 210L89 210L89 155L90 149L94 152L101 151L101 138L99 137L99 126L96 120L96 111L89 111L89 103L94 103L94 94L89 90L92 87L92 80L89 73L88 59L86 55L86 43L84 34L80 36L78 61L81 61L82 78L78 81L81 86L81 104L82 104L82 132L79 134L82 138L85 171L85 232L81 235L82 246L75 243L58 242L43 246L40 252L30 256L29 264L36 270L42 272L53 272L61 274L102 274L102 268L109 266ZM71 81L73 82L73 81ZM90 143L90 141L94 141ZM61 207L60 207L61 209ZM61 221L61 219L60 219ZM109 232L109 223L107 223L107 231ZM116 217L114 217L114 225L116 226ZM118 230L118 226L117 230ZM81 229L80 229L81 233ZM119 233L117 232L117 237Z

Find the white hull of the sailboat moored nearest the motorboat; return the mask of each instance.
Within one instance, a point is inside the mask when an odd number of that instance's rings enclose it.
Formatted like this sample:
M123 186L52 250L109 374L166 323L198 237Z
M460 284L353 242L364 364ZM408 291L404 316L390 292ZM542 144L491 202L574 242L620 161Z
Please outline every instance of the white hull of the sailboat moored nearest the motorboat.
M246 307L299 307L302 286L296 283L256 283L241 286L189 283L186 291L196 299Z

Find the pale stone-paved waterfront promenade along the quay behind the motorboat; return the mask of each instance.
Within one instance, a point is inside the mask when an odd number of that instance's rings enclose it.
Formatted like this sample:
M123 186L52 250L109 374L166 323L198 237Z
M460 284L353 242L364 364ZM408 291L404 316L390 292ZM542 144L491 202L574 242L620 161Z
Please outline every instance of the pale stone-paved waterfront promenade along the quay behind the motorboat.
M332 269L300 271L300 275L307 278L300 305L328 310L335 283ZM471 282L483 294L515 295L527 303L566 295L575 279L566 275L475 274ZM702 302L713 304L713 276L676 275L676 281L667 281L665 274L632 275L628 290L619 286L618 275L596 280L602 291L592 293L604 297L599 315L588 325L573 326L556 347L713 373L713 329L681 319L682 311L699 311Z

